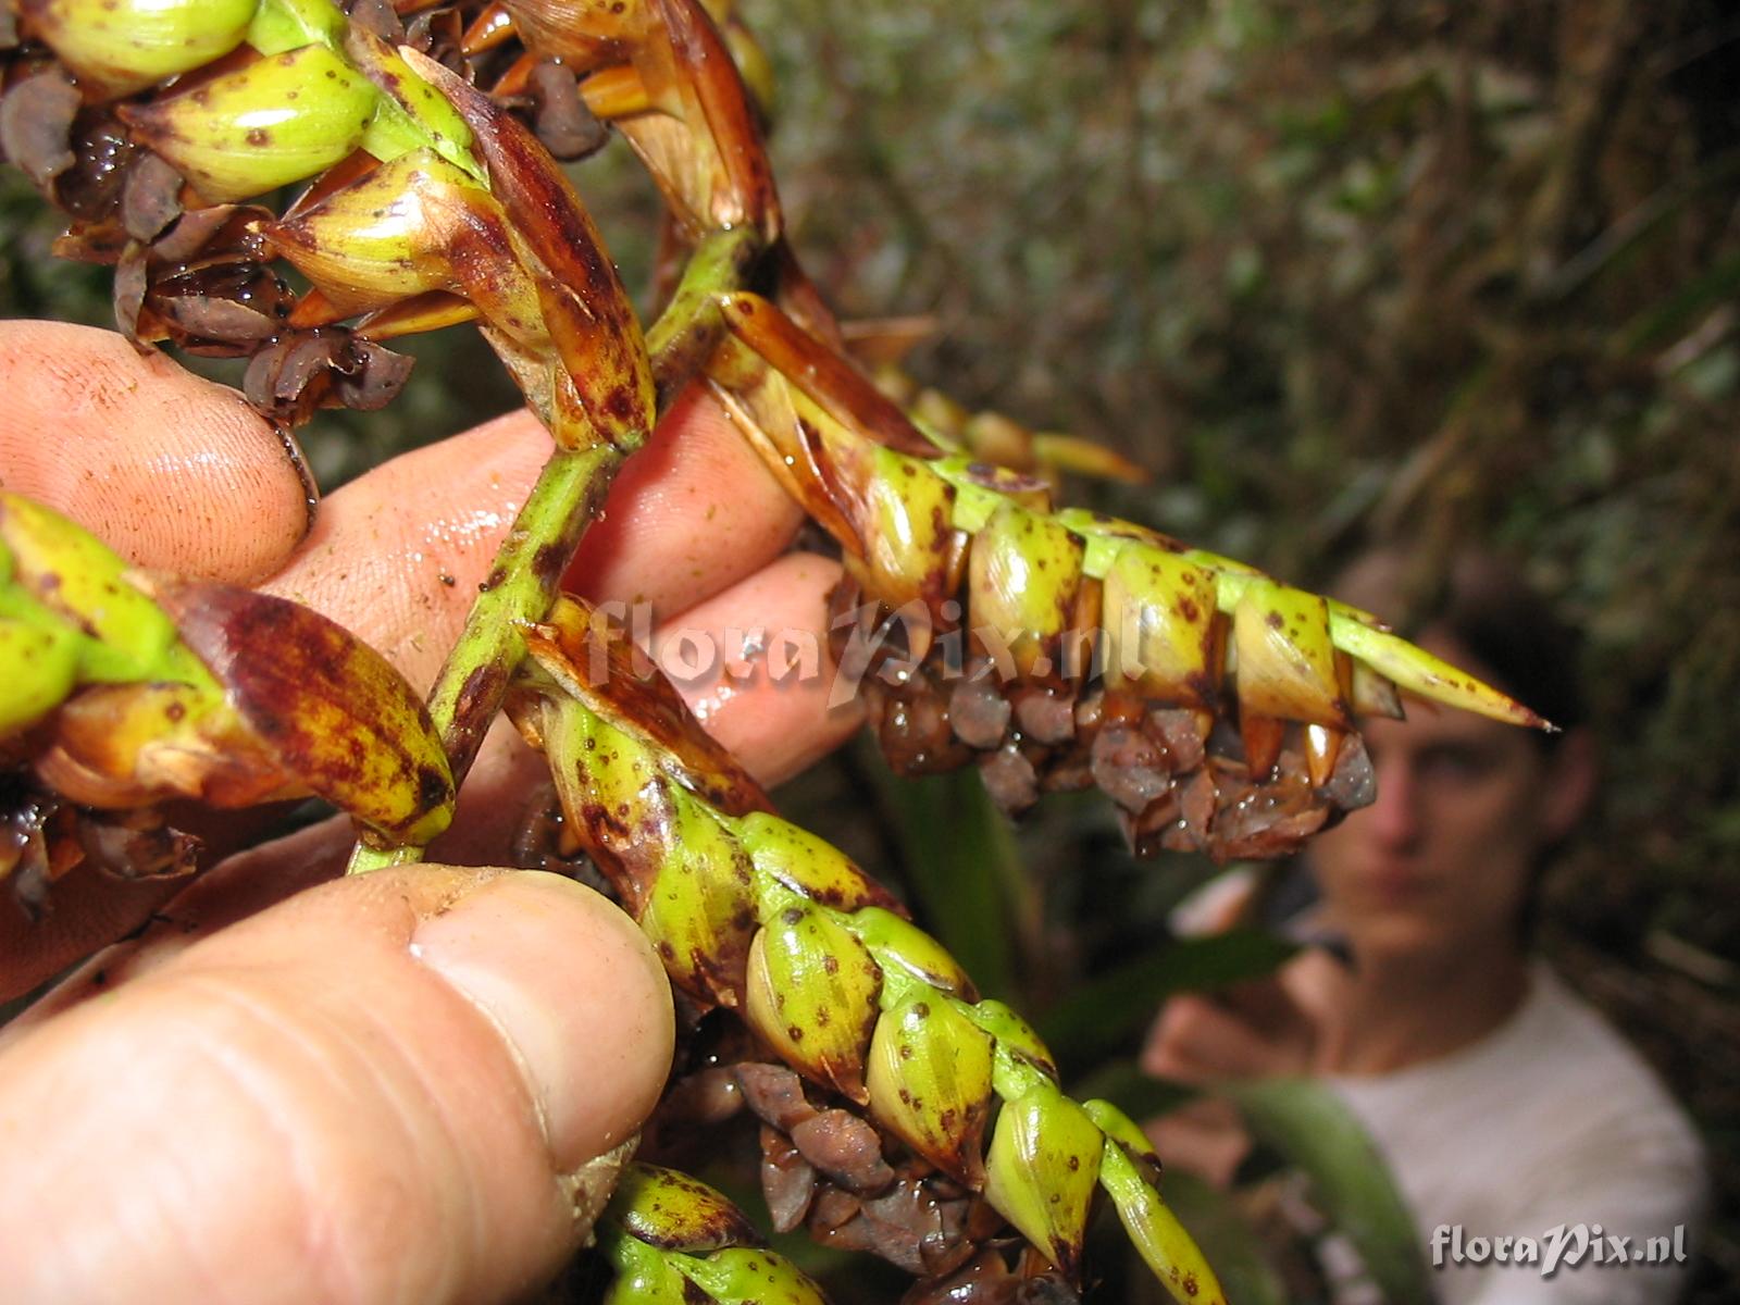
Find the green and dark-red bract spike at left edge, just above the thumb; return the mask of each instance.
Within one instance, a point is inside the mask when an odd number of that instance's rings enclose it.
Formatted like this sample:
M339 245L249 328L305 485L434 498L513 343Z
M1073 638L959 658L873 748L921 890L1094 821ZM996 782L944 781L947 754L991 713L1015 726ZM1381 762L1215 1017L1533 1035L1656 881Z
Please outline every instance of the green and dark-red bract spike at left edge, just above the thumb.
M378 652L282 599L136 578L96 536L0 492L0 740L96 807L313 792L381 837L433 837L452 776ZM52 720L49 720L52 715Z

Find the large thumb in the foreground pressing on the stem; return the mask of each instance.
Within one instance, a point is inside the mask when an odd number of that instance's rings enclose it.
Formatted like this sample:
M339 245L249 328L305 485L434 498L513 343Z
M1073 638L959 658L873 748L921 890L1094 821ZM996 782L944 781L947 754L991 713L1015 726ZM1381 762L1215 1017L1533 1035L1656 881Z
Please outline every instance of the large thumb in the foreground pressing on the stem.
M322 886L5 1047L9 1300L520 1296L670 1056L658 960L571 880Z

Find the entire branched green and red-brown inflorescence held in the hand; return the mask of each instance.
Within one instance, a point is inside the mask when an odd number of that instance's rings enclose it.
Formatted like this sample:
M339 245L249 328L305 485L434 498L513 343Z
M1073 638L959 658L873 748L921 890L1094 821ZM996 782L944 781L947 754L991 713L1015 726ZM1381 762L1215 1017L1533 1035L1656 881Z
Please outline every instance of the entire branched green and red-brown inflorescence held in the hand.
M1098 786L1141 851L1298 846L1369 800L1355 722L1397 712L1397 689L1543 722L1364 612L1058 510L1044 480L959 447L934 400L908 414L879 392L785 240L766 64L729 5L14 5L0 148L70 214L61 252L117 268L134 341L247 357L247 397L289 430L388 402L409 371L388 341L475 320L557 444L426 713L291 604L132 576L70 524L0 503L0 875L19 898L50 908L80 860L197 868L171 797L320 793L365 830L355 870L416 860L506 703L566 832L691 1011L746 1028L706 1074L760 1121L781 1230L875 1251L924 1279L919 1298L1006 1300L1079 1286L1105 1195L1173 1295L1216 1300L1131 1122L1067 1096L1014 1011L773 814L668 686L557 595L611 477L705 383L839 543L837 652L894 764L976 762L1014 813ZM646 332L555 162L611 130L668 207ZM679 1084L670 1114L684 1100ZM611 1300L816 1298L680 1174L630 1169L600 1228Z

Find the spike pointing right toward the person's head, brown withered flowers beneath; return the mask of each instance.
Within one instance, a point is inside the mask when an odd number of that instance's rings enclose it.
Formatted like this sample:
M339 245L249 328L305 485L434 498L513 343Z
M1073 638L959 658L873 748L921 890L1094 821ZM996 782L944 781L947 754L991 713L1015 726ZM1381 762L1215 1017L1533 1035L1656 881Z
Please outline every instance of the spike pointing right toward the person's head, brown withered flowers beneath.
M1272 856L1371 800L1354 717L1399 715L1395 686L1542 724L1368 612L1054 512L1044 480L926 440L778 306L722 303L708 381L840 541L844 670L898 769L976 760L1013 814L1098 785L1141 853Z

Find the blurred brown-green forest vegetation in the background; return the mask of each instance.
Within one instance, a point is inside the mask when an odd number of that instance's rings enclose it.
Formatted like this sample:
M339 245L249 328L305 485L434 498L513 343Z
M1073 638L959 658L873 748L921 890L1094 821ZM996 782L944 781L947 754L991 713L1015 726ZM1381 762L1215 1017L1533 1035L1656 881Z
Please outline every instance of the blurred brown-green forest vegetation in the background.
M1082 498L1303 583L1406 536L1498 545L1559 595L1589 637L1610 783L1552 884L1549 950L1705 1126L1721 1215L1702 1289L1726 1298L1740 3L741 7L778 70L776 172L828 298L936 315L920 379L1155 473ZM633 162L612 148L578 176L647 284L656 209ZM104 320L106 275L52 263L49 223L0 174L0 313ZM475 388L496 369L468 332L419 348L404 404L310 433L324 484L508 402ZM1047 802L1009 839L976 792L901 793L849 752L785 797L907 877L1035 1009L1152 947L1208 873L1133 865L1100 802Z

